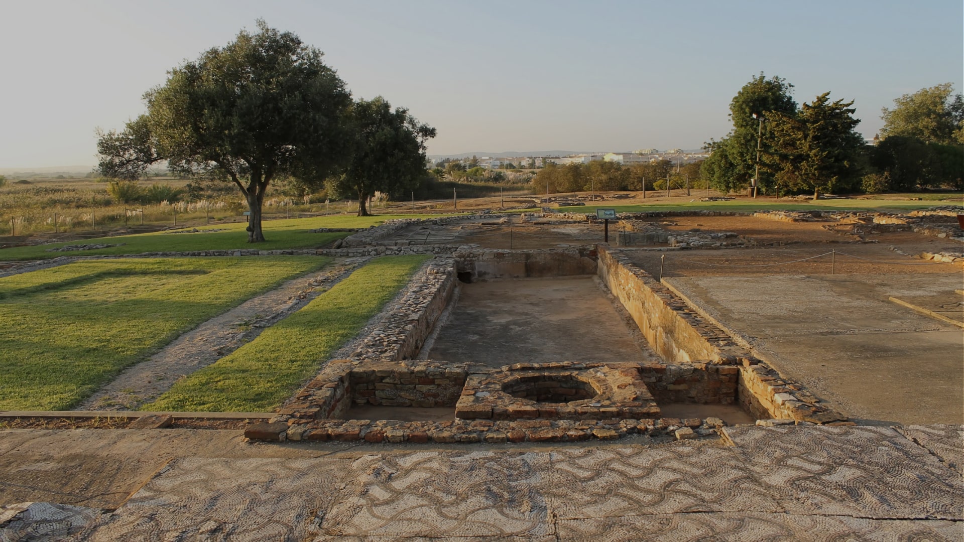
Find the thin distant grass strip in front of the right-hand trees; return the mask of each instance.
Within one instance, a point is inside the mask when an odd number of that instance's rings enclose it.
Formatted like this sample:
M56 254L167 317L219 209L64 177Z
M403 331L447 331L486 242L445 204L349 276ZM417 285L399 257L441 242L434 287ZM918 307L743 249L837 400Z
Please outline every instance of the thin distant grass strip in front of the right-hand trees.
M750 203L749 200L740 199L729 202L692 202L692 203L655 203L655 204L636 204L636 205L574 205L571 207L560 207L560 212L578 212L594 214L596 209L616 209L616 212L646 212L646 211L690 211L690 210L716 210L732 212L753 212L759 210L913 210L925 209L936 204L953 204L953 202L902 202L902 201L880 201L880 200L820 200L819 203L800 202L800 203Z

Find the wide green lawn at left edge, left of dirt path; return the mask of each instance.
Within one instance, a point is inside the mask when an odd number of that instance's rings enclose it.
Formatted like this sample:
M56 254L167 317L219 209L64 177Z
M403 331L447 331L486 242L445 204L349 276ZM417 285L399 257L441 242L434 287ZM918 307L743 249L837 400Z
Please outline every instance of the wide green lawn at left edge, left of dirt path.
M0 410L66 410L198 324L329 257L85 261L0 278Z

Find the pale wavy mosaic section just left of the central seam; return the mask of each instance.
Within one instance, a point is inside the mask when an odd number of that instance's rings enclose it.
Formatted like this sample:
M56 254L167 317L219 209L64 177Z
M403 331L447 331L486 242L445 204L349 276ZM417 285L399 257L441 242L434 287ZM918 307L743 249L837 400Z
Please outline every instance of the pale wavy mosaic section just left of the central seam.
M347 498L317 522L339 536L548 536L548 471L546 453L366 455Z

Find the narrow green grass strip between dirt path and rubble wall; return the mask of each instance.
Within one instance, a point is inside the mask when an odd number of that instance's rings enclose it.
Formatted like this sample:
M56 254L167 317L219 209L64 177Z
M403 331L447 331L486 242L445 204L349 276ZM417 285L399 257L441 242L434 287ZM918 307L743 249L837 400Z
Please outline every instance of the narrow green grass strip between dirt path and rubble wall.
M270 412L381 312L429 257L380 257L141 410Z

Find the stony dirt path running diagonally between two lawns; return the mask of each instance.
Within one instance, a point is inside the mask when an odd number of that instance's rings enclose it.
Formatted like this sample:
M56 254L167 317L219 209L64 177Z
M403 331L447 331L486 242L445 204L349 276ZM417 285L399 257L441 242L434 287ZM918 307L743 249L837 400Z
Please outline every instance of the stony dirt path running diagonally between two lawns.
M321 271L292 279L280 287L202 323L145 362L125 369L112 382L77 406L77 410L136 410L191 374L250 342L288 314L362 266L367 257L335 260Z

